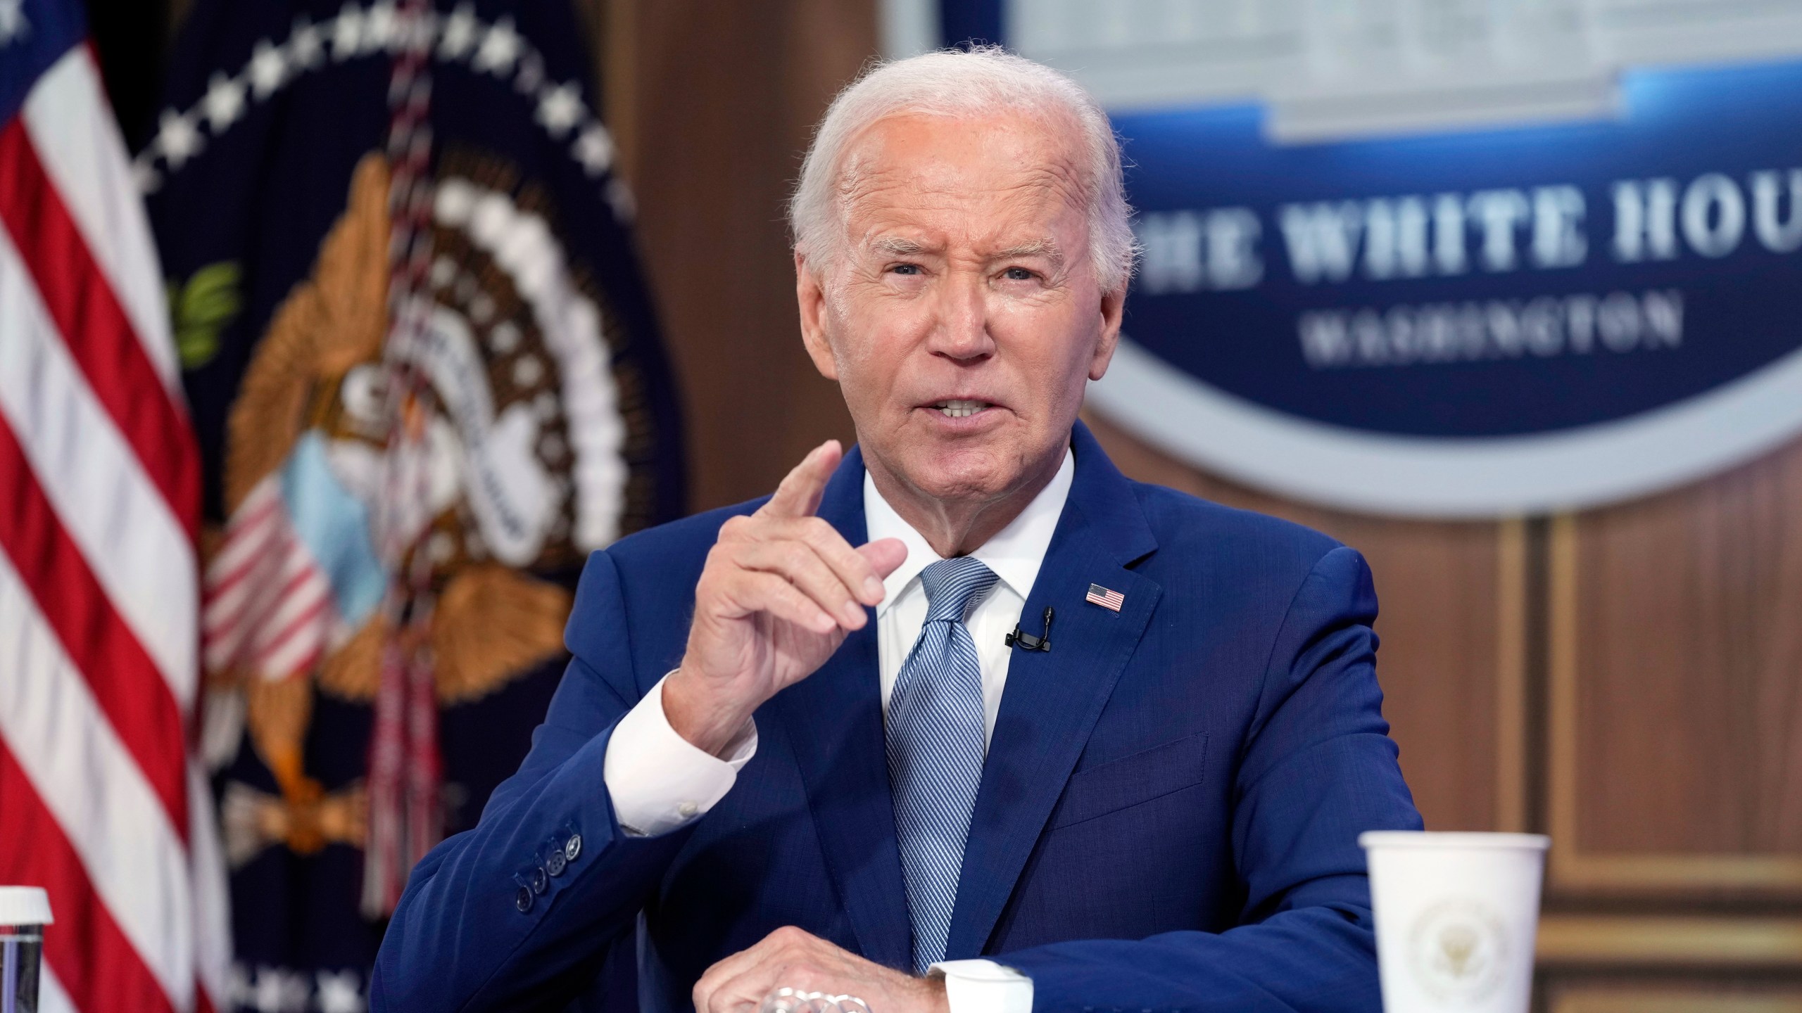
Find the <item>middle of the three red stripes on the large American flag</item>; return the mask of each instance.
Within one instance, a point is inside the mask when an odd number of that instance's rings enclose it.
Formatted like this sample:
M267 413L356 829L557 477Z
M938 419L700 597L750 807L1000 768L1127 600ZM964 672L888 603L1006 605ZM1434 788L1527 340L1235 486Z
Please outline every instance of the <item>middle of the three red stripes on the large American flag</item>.
M0 418L0 552L13 559L68 660L86 680L119 741L144 770L169 826L187 833L187 762L182 712L169 685L112 609L94 571L25 465L13 429Z

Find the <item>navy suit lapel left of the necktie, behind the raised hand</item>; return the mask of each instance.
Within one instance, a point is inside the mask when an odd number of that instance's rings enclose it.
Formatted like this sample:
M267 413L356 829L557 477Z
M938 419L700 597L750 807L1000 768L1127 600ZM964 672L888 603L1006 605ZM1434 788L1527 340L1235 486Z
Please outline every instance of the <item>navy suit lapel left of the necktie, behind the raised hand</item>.
M856 447L827 483L820 517L851 544L867 541ZM883 748L876 611L820 671L777 694L771 707L795 750L820 845L863 955L906 968L910 921Z

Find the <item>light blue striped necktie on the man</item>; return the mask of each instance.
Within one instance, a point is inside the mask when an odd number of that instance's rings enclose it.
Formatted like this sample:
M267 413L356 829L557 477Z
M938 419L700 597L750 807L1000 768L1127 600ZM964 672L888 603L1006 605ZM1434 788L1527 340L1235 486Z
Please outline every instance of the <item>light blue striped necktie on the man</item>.
M969 813L982 784L982 663L964 620L995 580L969 557L941 559L921 571L926 624L888 696L888 789L915 973L944 959Z

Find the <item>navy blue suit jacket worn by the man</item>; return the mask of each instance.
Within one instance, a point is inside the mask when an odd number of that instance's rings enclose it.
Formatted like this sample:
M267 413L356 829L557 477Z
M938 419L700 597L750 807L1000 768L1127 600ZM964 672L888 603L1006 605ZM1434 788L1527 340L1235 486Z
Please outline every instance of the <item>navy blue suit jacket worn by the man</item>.
M1128 481L1081 424L1072 447L1024 613L1056 609L1052 649L1009 663L948 957L1022 970L1036 1009L1377 1011L1357 835L1420 817L1382 719L1364 559ZM757 755L708 815L640 838L607 800L614 725L681 660L721 523L759 503L589 559L532 753L413 871L377 1009L688 1009L708 964L784 925L908 966L876 622L757 712ZM865 541L856 451L820 516ZM1121 609L1085 602L1090 584ZM577 858L551 860L571 836ZM636 997L609 988L633 977Z

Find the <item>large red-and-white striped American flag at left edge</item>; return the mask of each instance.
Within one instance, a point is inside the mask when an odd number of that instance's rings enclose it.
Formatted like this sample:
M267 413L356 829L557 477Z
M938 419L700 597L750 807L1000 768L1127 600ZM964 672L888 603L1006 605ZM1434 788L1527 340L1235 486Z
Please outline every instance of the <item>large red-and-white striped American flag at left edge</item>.
M50 894L40 1009L216 1009L200 460L76 0L0 0L0 883Z

